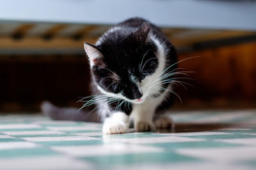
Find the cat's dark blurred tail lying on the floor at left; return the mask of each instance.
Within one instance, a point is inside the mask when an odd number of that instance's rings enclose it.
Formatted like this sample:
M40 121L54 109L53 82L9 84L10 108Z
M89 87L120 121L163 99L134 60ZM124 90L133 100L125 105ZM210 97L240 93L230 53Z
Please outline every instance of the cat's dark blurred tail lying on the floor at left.
M41 104L41 111L44 115L54 120L100 122L100 117L95 111L89 113L89 111L79 111L78 108L60 108L54 106L49 101L44 101Z

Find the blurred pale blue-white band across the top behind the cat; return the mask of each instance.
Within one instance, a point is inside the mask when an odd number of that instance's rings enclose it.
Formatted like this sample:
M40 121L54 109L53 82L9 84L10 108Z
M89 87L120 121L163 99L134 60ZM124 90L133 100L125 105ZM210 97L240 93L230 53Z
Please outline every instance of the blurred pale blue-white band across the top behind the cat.
M166 27L256 31L255 1L0 0L0 22L115 24L136 16Z

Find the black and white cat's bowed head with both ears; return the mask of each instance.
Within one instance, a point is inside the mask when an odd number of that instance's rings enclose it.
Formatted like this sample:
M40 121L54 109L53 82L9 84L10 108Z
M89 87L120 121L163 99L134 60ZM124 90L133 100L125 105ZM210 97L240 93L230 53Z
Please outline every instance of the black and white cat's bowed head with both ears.
M120 31L108 32L99 45L84 43L93 79L108 96L142 103L151 95L149 84L159 67L157 45L147 22L129 34Z

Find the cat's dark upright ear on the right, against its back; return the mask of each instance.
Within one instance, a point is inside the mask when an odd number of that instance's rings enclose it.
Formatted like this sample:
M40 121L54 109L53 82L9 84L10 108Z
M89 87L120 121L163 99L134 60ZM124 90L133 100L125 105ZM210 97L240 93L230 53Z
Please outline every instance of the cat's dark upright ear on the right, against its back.
M150 32L149 22L143 22L143 24L140 25L138 30L136 32L134 32L134 38L137 41L144 43L145 41L147 41L149 32Z

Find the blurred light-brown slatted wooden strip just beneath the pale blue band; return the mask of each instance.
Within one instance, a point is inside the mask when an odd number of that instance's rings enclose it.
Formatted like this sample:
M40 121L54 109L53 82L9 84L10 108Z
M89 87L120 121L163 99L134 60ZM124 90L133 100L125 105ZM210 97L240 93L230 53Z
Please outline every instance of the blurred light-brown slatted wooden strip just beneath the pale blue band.
M83 54L83 43L95 43L97 38L109 27L111 25L0 23L0 55L19 53ZM256 41L255 31L170 27L161 29L180 52L193 51L198 43L202 44L205 41L245 36L253 36Z

